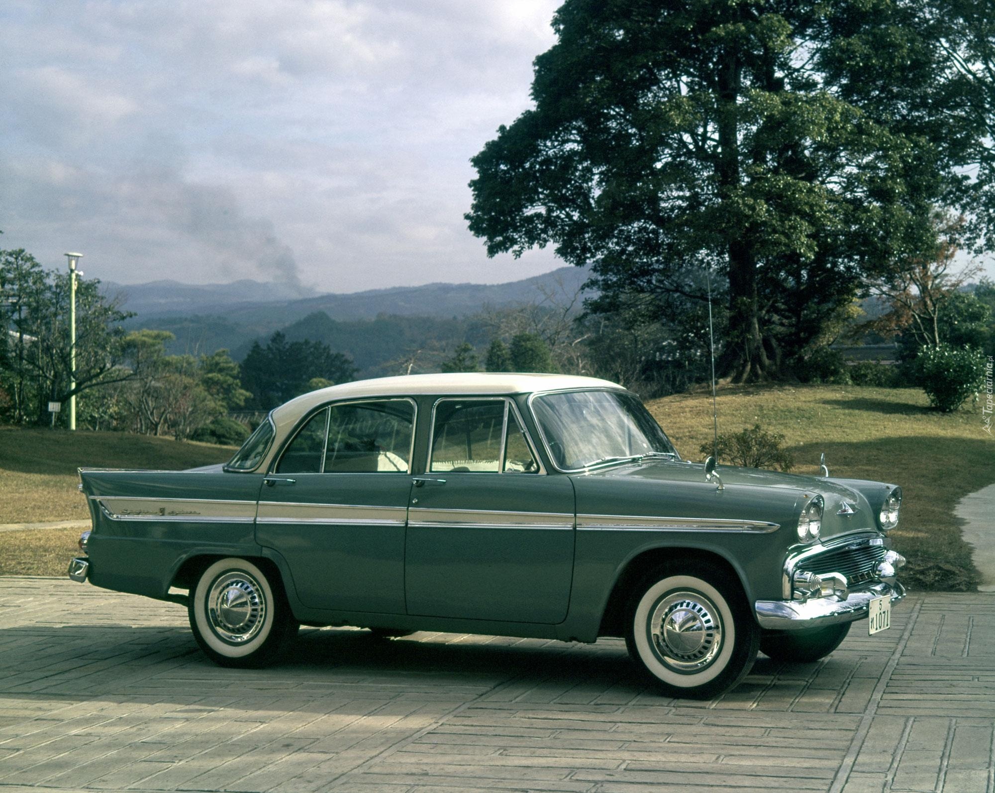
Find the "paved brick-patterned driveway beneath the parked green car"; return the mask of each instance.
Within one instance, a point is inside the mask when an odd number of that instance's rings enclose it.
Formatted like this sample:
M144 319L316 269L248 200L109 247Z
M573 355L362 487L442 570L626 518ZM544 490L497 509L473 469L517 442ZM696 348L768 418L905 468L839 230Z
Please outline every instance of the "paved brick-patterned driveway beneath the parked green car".
M310 630L223 669L182 608L55 579L0 579L0 629L0 793L995 793L990 594L909 598L711 702L647 690L618 641Z

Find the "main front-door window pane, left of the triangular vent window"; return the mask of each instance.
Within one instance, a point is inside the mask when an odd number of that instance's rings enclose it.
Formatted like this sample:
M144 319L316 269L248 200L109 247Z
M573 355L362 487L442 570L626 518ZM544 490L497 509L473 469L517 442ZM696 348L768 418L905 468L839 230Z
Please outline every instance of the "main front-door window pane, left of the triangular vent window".
M435 411L431 471L500 470L503 399L446 399Z

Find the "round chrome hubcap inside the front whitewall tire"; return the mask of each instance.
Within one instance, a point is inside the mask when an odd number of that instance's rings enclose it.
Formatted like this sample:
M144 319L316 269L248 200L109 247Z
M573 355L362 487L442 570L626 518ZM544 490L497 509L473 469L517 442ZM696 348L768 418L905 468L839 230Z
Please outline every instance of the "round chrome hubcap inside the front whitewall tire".
M722 647L715 605L698 592L672 592L650 617L650 638L662 661L676 671L700 671Z

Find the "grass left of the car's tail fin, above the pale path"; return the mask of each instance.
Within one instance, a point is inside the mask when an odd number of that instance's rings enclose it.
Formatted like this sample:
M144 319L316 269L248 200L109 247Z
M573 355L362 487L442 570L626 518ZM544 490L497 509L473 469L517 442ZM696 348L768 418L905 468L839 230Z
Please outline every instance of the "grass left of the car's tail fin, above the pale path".
M193 468L223 462L229 446L122 432L0 427L0 523L87 520L77 468Z

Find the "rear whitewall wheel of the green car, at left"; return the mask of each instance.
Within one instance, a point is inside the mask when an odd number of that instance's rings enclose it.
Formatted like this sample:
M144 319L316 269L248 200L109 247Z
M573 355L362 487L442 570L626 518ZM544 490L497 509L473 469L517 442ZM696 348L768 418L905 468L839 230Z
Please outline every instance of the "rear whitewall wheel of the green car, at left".
M187 613L200 649L222 666L279 661L299 627L279 579L246 559L221 559L208 567Z

